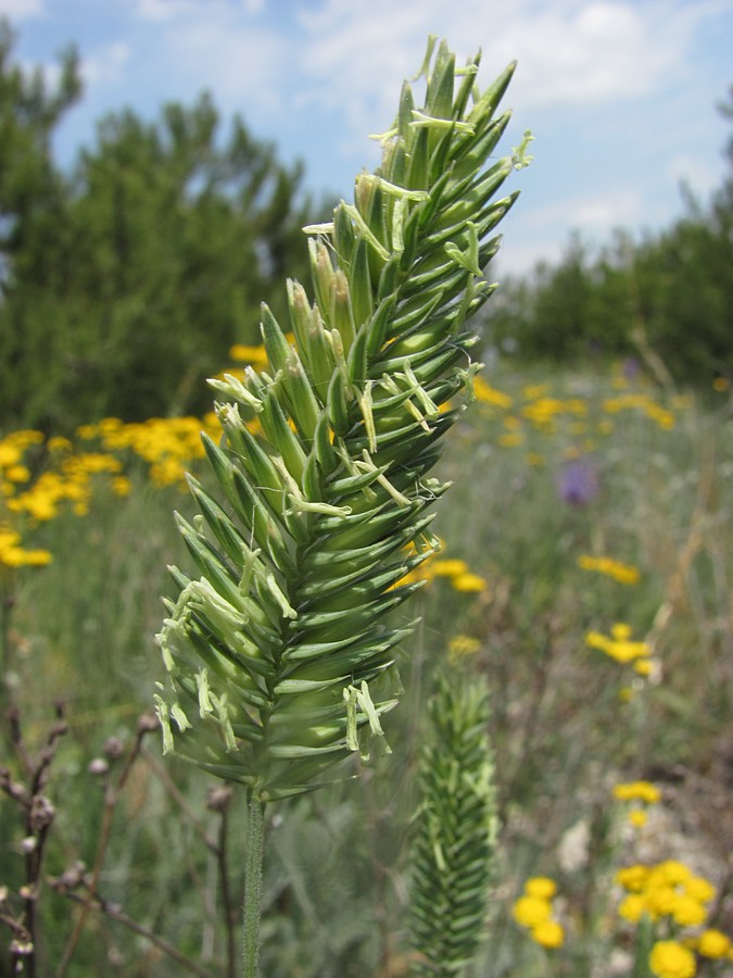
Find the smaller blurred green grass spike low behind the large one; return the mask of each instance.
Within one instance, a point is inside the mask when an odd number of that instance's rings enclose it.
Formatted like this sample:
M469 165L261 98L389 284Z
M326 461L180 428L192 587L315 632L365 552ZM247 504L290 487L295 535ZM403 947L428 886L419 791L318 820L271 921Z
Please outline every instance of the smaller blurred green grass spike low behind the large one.
M441 677L418 772L410 936L421 975L456 975L483 936L496 837L489 701L475 676Z

